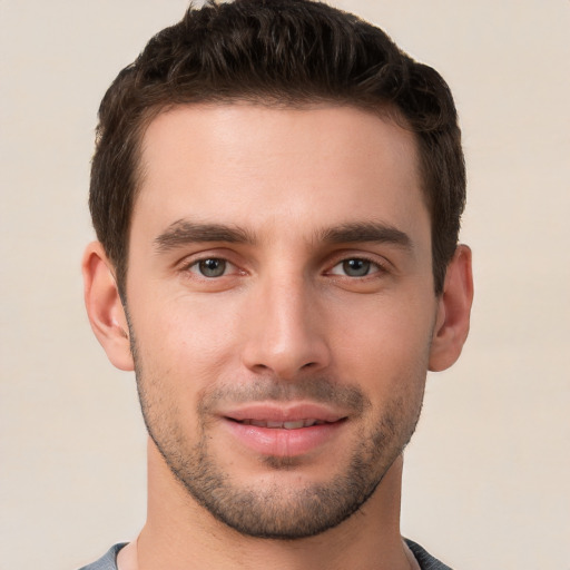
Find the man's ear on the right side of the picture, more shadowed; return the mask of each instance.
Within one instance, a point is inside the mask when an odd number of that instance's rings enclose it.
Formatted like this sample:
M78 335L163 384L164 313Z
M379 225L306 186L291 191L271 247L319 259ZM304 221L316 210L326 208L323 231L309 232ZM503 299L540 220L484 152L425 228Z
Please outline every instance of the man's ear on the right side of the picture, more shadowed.
M469 333L473 302L471 249L460 245L448 265L430 350L430 370L449 368L461 354Z

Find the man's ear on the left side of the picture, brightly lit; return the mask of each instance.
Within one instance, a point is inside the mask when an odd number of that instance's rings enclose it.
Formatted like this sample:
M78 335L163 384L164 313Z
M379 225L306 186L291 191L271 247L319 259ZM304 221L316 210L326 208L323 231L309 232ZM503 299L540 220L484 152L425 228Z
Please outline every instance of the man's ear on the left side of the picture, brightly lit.
M129 327L112 265L99 242L87 246L81 267L85 305L95 336L117 368L135 370Z

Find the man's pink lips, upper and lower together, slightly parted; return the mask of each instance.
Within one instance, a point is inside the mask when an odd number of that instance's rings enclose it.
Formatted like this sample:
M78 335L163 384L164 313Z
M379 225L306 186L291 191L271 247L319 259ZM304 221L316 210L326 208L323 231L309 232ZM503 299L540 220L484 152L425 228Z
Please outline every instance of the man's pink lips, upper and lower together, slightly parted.
M346 423L347 416L320 404L276 405L256 403L224 411L224 425L243 446L259 453L278 458L295 458L317 451L335 439ZM307 420L314 425L292 429L291 425ZM289 428L267 428L254 423L285 423ZM312 423L312 422L311 422Z

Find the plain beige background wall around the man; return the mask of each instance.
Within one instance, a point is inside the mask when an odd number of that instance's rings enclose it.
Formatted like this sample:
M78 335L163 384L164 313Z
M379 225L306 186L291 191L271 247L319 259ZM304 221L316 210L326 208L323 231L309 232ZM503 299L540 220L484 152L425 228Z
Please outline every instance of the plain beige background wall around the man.
M336 4L438 68L464 130L472 334L429 377L402 530L458 570L570 569L570 2ZM1 570L72 570L144 521L135 382L79 259L98 102L185 6L0 1Z

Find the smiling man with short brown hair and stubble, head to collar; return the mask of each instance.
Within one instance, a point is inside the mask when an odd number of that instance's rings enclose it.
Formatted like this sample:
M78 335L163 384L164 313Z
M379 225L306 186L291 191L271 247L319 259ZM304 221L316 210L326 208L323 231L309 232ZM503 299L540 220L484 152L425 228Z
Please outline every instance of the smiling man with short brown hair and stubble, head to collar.
M149 491L87 568L448 568L399 522L472 299L443 79L325 4L238 0L150 40L99 118L85 297Z

